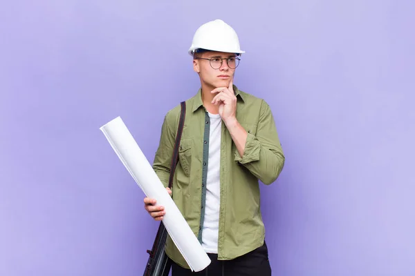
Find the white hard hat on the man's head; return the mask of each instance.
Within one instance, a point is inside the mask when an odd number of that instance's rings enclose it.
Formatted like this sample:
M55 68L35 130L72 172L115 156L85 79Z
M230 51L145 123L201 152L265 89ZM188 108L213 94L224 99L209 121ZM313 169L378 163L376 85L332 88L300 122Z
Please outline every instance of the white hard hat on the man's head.
M235 54L243 54L245 52L239 46L237 32L220 19L204 23L196 30L192 46L190 46L188 52L190 55L193 55L194 50L199 48Z

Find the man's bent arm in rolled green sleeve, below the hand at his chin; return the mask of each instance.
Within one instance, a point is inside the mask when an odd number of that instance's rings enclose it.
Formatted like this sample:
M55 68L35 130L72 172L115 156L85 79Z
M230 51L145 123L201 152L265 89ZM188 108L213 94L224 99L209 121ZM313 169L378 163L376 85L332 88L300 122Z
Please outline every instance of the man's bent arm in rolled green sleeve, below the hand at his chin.
M264 184L272 184L284 167L285 157L268 104L261 103L255 135L247 133L236 119L230 120L227 128L237 146L234 161L248 168Z

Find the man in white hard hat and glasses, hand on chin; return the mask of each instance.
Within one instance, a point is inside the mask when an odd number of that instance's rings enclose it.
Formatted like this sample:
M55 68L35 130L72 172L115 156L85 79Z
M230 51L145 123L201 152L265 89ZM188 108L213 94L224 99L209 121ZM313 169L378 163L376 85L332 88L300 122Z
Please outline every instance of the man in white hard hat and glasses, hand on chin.
M273 183L284 166L273 115L264 100L233 85L243 51L228 24L203 24L189 53L201 88L186 101L179 163L172 191L167 190L212 262L191 273L168 237L172 275L271 275L259 180ZM154 159L166 187L180 110L178 105L167 112ZM163 219L163 206L147 197L144 202L151 217Z

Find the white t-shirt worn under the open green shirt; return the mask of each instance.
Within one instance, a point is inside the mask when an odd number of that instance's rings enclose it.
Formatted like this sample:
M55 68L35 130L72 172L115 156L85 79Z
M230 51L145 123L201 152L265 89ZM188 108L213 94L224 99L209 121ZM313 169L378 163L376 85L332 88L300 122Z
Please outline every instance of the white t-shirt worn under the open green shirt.
M202 247L206 253L218 253L219 207L221 204L221 123L219 114L210 117L208 177L206 179L205 219Z

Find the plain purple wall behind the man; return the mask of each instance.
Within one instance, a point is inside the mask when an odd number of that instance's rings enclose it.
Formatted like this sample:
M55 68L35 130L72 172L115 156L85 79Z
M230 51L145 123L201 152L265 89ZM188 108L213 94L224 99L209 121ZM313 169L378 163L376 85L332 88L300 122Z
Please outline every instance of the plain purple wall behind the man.
M286 154L261 187L273 275L415 275L414 2L203 3L2 3L0 275L142 275L158 223L99 127L120 115L152 161L216 18Z

